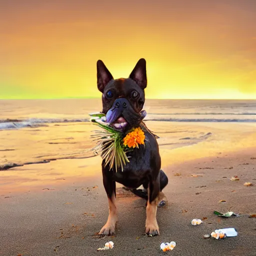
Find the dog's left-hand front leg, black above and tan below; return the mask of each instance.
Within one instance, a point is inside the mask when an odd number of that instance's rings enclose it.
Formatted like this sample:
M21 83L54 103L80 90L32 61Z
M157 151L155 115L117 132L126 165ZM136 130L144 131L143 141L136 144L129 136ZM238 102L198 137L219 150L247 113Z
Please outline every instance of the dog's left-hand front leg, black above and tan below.
M99 234L111 235L115 230L115 223L117 221L117 211L115 206L115 181L112 179L112 171L105 169L102 166L103 185L107 194L109 214L106 223L100 229Z

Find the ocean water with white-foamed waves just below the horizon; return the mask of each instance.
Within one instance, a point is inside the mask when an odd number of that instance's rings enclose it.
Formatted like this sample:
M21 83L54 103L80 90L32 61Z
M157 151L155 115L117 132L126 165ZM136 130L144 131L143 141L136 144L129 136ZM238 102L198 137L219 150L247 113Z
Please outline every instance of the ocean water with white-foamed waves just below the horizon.
M145 121L256 122L256 100L148 99ZM88 122L100 99L0 100L0 129Z

